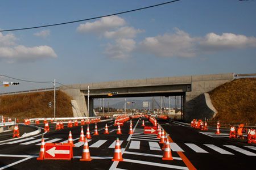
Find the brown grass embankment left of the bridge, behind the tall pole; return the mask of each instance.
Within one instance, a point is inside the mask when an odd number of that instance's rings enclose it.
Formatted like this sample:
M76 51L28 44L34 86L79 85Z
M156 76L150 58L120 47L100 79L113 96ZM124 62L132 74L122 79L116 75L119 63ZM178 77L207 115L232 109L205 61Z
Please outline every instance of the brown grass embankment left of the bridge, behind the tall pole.
M11 118L53 117L53 91L30 94L1 96L0 115ZM53 103L52 103L53 105ZM71 98L64 92L56 91L56 117L73 117Z

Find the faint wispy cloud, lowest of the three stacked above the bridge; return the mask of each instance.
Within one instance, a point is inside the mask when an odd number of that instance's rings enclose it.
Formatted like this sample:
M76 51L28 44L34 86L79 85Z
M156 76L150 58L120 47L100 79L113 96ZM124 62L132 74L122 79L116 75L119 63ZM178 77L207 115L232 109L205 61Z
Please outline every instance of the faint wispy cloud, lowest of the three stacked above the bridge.
M129 58L129 53L135 48L136 42L133 39L117 39L115 44L107 44L104 54L110 58Z

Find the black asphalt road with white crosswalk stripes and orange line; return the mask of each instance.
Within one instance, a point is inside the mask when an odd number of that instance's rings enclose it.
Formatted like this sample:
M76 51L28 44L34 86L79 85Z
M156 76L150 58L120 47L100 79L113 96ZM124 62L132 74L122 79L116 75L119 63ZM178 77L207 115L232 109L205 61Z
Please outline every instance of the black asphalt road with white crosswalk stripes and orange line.
M152 126L143 118L146 126ZM73 147L74 158L71 160L36 160L40 151L41 137L28 138L0 145L0 169L251 169L256 160L255 145L246 141L229 139L225 133L217 136L214 130L200 131L177 122L160 119L158 122L172 139L172 157L174 160L162 160L162 144L158 144L156 135L143 133L142 120L134 118L134 134L129 133L130 121L121 126L122 134L116 134L114 121L97 124L98 133L93 135L94 124L89 125L92 136L89 141L90 162L80 162L82 143L78 142L81 126L55 130L44 134L46 143L67 142L69 130L76 147ZM110 134L103 134L105 124ZM43 127L43 125L40 125ZM86 134L87 126L84 126ZM212 133L211 133L212 132ZM119 138L123 162L112 162L114 143ZM24 139L22 139L24 140ZM249 147L252 148L249 148ZM254 167L253 167L254 169Z

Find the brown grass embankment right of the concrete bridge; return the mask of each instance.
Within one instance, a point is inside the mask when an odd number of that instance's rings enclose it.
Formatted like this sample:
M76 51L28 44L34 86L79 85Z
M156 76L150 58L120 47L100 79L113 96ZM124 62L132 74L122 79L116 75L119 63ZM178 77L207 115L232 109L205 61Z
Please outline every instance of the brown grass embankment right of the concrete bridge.
M215 121L256 123L256 78L236 79L209 92Z

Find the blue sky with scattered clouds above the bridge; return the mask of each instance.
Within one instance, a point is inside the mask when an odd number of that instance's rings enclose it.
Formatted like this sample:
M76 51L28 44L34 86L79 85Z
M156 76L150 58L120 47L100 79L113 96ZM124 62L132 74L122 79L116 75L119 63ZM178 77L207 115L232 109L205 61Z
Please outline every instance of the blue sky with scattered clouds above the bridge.
M5 1L0 29L115 14L168 1ZM0 32L0 74L62 84L256 73L256 1L180 0L72 24ZM53 87L20 82L0 93ZM57 84L59 86L59 84Z

